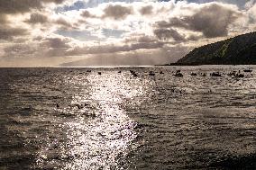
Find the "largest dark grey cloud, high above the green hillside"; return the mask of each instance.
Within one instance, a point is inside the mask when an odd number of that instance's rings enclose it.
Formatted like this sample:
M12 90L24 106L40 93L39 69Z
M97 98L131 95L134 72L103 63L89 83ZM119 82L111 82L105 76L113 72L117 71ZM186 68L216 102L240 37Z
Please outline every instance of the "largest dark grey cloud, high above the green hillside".
M240 13L235 9L212 3L205 5L191 16L170 18L169 22L157 22L157 27L159 29L176 27L185 28L190 31L200 31L206 38L222 37L228 34L228 26L232 24L239 15ZM166 34L170 36L169 32L166 32Z

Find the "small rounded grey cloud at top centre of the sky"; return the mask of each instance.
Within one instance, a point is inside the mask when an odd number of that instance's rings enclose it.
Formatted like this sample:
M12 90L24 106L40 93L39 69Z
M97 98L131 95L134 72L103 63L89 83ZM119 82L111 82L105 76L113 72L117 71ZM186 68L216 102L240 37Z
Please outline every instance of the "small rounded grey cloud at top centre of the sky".
M114 20L125 19L129 14L133 14L132 7L126 7L120 4L109 4L104 9L103 18L113 18Z

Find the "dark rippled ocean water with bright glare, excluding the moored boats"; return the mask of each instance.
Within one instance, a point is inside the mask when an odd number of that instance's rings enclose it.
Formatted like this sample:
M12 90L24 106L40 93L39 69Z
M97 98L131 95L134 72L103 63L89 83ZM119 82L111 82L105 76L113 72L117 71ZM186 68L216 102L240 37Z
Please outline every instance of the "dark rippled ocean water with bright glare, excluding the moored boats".
M245 67L0 68L0 169L256 169Z

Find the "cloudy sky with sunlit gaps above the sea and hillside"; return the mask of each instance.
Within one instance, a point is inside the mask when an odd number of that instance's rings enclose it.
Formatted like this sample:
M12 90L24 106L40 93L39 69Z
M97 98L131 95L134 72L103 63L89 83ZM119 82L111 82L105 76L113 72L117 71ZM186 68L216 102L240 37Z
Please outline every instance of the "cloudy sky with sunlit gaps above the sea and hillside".
M255 29L256 0L0 0L0 67L163 64Z

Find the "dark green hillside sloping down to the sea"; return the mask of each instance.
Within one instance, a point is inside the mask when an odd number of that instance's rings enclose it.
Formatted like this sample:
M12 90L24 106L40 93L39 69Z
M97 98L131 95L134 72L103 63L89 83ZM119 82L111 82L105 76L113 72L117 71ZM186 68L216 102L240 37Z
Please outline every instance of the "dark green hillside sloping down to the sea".
M255 65L256 32L222 40L188 53L176 65Z

